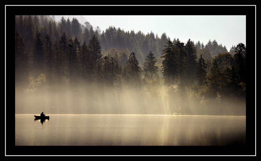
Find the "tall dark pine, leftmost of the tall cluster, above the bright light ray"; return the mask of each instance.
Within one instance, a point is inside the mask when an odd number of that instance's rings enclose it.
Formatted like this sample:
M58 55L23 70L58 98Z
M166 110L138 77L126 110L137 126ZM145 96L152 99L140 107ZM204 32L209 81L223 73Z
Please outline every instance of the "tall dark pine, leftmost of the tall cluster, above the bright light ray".
M174 46L172 41L168 39L167 46L162 53L162 75L167 86L171 86L176 83L178 77L178 64L175 53L173 52Z

